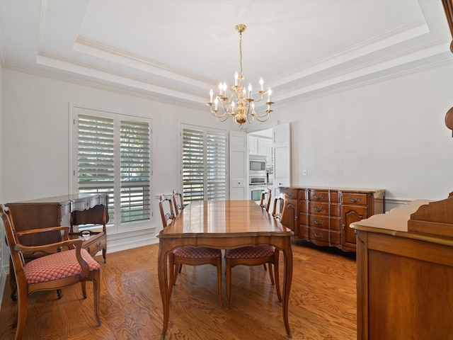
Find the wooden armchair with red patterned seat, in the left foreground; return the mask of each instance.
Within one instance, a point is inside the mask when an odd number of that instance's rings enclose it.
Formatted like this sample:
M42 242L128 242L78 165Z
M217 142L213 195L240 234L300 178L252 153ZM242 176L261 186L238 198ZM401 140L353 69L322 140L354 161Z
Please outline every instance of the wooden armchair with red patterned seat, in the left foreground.
M68 285L81 283L82 295L86 298L86 281L93 281L94 314L96 324L99 320L99 294L101 285L100 265L88 251L82 249L82 239L69 239L69 226L48 227L18 231L14 227L11 211L0 205L0 215L6 234L6 243L11 254L17 282L17 314L13 327L16 327L16 340L22 339L28 314L28 295L40 290L59 290ZM40 246L24 246L20 237L35 233L59 232L62 241ZM50 253L25 263L26 252Z

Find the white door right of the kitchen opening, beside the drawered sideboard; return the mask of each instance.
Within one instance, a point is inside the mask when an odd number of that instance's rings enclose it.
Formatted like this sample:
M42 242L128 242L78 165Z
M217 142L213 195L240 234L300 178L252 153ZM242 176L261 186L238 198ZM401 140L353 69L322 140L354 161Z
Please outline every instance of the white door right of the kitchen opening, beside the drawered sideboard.
M274 193L279 186L291 185L291 132L289 123L273 127Z

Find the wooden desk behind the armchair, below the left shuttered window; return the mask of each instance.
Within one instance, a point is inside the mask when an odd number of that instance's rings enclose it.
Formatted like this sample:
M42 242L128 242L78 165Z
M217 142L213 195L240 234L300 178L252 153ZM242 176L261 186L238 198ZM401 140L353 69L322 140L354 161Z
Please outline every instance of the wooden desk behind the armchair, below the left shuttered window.
M107 194L74 194L23 202L7 203L11 210L14 226L18 231L42 229L69 225L69 237L84 240L82 246L91 256L102 251L105 262L107 253L107 234L105 225L108 222ZM79 225L93 225L79 231ZM96 230L94 230L96 229ZM49 232L45 235L24 235L21 243L28 246L38 246L61 241L59 232ZM35 259L42 254L24 254L25 261ZM10 260L10 268L12 268ZM11 271L10 271L11 273ZM13 271L12 271L13 273ZM16 278L10 276L11 297L16 294Z

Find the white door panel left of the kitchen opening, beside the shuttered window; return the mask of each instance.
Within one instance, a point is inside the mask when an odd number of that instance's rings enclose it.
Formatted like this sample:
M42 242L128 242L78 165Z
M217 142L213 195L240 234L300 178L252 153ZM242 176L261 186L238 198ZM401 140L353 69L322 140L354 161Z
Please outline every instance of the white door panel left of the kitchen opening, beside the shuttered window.
M247 195L247 134L246 132L229 132L229 198L246 200Z

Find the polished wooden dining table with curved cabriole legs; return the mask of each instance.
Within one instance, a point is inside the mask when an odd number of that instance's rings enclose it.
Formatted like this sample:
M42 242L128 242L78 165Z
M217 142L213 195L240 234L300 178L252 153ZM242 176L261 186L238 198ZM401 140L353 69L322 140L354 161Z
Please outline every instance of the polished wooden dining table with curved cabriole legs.
M261 209L252 200L200 200L187 205L180 214L157 235L159 237L159 288L164 305L165 339L169 320L168 254L183 246L209 246L232 249L240 246L275 246L283 254L283 321L288 337L289 290L292 281L292 230ZM173 268L171 268L173 270Z

